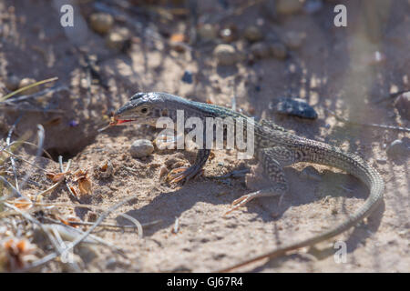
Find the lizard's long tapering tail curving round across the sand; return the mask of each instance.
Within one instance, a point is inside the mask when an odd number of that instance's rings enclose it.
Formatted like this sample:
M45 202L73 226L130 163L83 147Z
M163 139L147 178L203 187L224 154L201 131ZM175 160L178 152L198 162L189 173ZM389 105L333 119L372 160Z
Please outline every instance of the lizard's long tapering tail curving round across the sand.
M304 161L312 162L315 164L321 164L326 166L336 166L343 171L359 178L366 186L370 188L370 195L353 215L349 216L342 223L331 229L324 231L318 236L313 236L302 240L301 242L293 243L287 246L276 248L275 250L265 253L261 256L255 256L249 260L246 260L235 266L231 266L220 270L219 272L229 272L241 266L251 264L264 258L273 258L277 256L285 255L287 252L294 249L298 249L304 246L313 246L323 240L329 239L333 236L342 234L344 231L352 226L355 226L358 222L362 221L364 217L369 216L374 208L379 205L383 200L384 194L384 181L382 177L377 173L372 166L369 166L360 156L354 154L346 154L335 146L329 146L327 144L315 142L308 139L303 139L302 143L306 146L311 146L312 153L308 153ZM314 152L314 153L313 153ZM328 158L323 159L323 156Z

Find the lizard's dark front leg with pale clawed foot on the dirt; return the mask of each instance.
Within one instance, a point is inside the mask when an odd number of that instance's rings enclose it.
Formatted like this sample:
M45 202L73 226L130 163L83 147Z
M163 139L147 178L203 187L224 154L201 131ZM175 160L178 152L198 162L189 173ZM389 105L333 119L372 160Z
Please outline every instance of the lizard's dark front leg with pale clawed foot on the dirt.
M205 165L210 156L210 149L200 149L197 153L195 163L190 166L181 166L177 167L169 172L167 180L170 180L170 183L176 183L183 181L184 183L190 180L192 177L197 176L200 173L200 170Z

